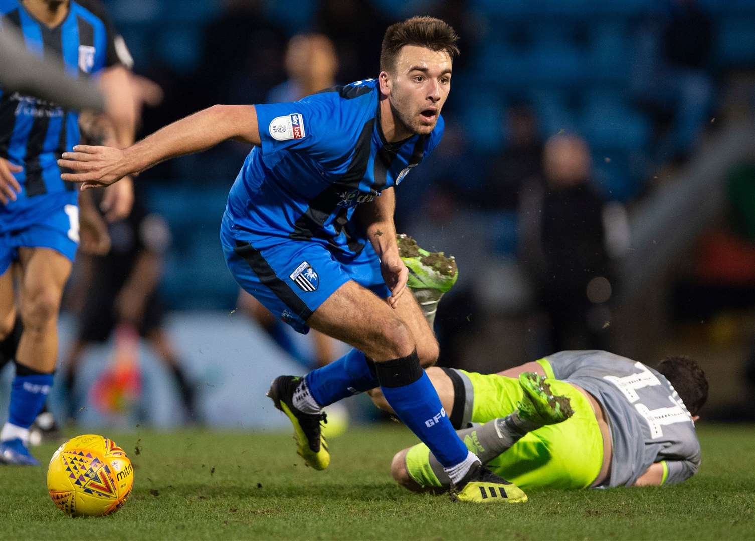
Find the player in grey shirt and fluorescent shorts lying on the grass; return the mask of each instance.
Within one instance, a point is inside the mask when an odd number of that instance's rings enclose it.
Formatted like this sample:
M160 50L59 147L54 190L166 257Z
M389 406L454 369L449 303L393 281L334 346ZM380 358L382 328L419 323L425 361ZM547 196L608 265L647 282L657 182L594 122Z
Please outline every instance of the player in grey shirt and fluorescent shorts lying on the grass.
M700 466L694 423L708 384L692 359L665 358L653 369L609 352L567 351L497 374L431 367L427 375L467 447L524 490L660 486ZM553 400L561 397L568 404ZM449 484L423 444L396 453L391 473L409 490Z

